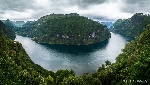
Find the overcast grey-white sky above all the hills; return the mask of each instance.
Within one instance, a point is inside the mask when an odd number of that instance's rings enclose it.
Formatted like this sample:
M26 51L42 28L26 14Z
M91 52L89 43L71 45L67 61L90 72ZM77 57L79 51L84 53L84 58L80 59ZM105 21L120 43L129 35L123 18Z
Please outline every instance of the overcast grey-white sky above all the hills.
M37 20L42 16L78 13L100 21L150 14L150 0L0 0L0 20Z

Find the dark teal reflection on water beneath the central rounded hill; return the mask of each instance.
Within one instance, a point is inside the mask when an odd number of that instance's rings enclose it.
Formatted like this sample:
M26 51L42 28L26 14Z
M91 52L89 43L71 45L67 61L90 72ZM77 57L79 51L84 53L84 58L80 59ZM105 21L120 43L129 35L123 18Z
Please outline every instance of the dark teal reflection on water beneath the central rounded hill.
M106 47L108 40L105 40L100 43L95 43L91 45L54 45L54 44L41 44L47 49L53 49L60 53L69 53L69 54L80 54L80 53L90 53L98 49Z

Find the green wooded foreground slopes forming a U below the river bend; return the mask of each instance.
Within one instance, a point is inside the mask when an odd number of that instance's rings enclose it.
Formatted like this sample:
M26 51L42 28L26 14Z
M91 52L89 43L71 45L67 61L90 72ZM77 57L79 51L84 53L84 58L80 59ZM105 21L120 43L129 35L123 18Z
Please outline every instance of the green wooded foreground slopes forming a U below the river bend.
M145 85L150 82L150 24L135 41L127 43L116 62L106 61L97 72L76 76L73 70L47 71L33 63L19 42L0 23L1 85ZM10 29L9 32L12 32ZM13 32L12 32L13 33Z

